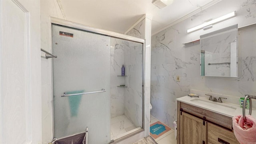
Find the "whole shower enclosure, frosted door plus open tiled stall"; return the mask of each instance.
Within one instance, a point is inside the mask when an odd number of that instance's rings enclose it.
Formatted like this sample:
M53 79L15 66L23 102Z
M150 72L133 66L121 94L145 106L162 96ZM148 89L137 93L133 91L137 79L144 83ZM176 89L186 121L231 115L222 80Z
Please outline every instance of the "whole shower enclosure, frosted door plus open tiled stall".
M52 24L54 137L108 144L143 129L143 44ZM125 67L125 76L121 67Z

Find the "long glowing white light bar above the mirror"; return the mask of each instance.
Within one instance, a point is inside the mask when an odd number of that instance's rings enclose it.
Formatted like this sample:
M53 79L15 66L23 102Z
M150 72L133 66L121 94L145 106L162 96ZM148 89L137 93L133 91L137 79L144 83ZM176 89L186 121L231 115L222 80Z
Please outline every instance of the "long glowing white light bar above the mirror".
M224 16L221 16L221 17L219 17L219 18L216 18L216 19L214 19L214 20L211 20L211 21L209 21L209 22L206 22L206 23L204 23L204 24L200 24L199 26L196 26L196 27L194 27L194 28L190 28L190 29L187 30L187 33L193 32L193 31L195 31L195 30L199 30L199 29L201 29L201 28L204 28L204 27L206 27L206 26L215 24L215 23L220 22L220 21L222 21L222 20L226 20L226 19L231 18L231 17L233 17L233 16L236 16L236 11L231 12L231 13L229 13L229 14L226 14L226 15L224 15Z

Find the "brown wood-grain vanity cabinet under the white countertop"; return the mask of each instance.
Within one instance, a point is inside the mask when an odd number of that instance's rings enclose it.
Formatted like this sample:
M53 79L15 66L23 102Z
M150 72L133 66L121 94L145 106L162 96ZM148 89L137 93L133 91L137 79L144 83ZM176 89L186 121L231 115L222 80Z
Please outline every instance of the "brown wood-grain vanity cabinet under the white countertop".
M177 144L240 144L232 118L178 101Z

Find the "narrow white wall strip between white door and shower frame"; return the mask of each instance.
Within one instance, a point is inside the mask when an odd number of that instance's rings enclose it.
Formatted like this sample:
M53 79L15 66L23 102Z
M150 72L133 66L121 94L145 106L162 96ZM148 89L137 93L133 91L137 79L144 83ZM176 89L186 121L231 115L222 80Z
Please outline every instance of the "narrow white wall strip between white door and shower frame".
M56 0L41 0L41 48L51 52L50 16L62 18ZM41 54L45 54L41 52ZM53 138L52 65L51 59L41 58L42 72L42 143L48 144Z

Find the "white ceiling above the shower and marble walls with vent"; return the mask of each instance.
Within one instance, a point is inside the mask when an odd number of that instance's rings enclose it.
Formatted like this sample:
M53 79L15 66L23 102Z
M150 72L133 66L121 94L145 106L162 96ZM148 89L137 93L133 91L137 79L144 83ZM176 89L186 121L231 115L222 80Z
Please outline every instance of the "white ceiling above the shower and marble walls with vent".
M57 0L58 1L58 0ZM220 0L174 0L159 9L152 0L60 0L67 20L124 33L144 14L152 16L152 34L179 18Z

